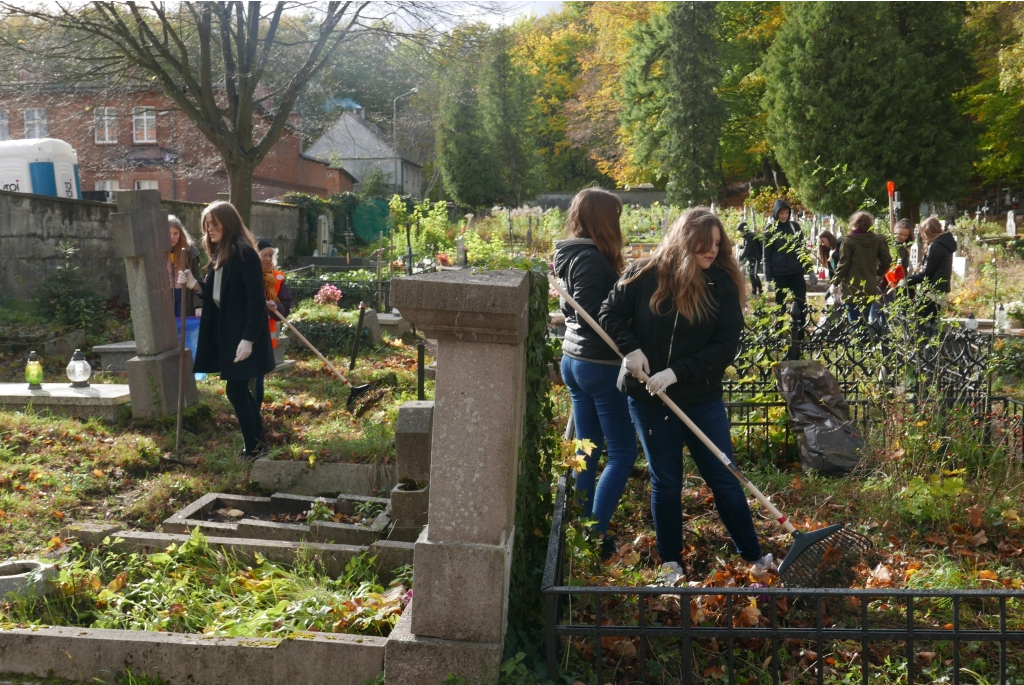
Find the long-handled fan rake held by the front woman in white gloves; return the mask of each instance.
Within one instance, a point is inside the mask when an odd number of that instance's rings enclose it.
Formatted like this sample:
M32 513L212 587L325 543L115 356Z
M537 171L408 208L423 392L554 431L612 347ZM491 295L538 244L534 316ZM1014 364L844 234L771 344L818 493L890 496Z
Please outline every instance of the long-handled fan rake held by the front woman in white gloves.
M620 351L618 346L611 337L594 320L593 316L587 313L586 309L581 307L565 292L565 289L558 283L558 280L549 274L548 282L555 292L568 302L569 306L575 309L577 313L601 336L601 339L608 344L608 347L613 349L618 356L623 356L622 351ZM647 375L641 371L640 382L646 383L647 378ZM818 588L828 587L826 584L848 584L844 581L850 573L850 567L855 565L863 553L871 549L871 541L858 532L846 529L842 523L836 523L807 532L798 530L790 522L790 519L758 489L758 486L752 483L736 465L726 457L725 453L719 449L695 423L690 421L690 418L679 409L676 402L665 394L664 391L657 393L657 396L712 451L712 454L718 457L718 460L729 469L732 475L736 476L736 479L742 483L743 487L750 490L751 495L761 503L761 506L768 510L772 518L778 521L785 528L785 531L793 537L793 547L790 548L788 554L785 555L785 558L778 567L778 576L784 585L799 588Z

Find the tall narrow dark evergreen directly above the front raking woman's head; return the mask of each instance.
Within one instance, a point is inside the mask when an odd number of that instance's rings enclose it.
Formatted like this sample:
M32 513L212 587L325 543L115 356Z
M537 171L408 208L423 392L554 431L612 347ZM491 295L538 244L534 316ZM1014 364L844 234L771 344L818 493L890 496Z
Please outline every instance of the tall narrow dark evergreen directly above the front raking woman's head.
M715 43L714 2L680 2L667 16L664 166L670 203L701 204L716 197L719 137L725 105Z

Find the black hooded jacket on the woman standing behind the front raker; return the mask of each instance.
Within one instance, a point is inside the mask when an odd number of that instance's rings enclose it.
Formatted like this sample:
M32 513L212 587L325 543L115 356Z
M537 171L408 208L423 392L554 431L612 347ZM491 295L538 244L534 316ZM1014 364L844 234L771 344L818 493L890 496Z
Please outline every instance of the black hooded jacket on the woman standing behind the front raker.
M618 274L611 262L589 238L572 238L555 242L555 274L565 284L565 291L577 304L597 320L601 303L608 296ZM587 322L567 302L561 303L565 314L565 337L562 353L578 359L599 363L618 363L615 354Z

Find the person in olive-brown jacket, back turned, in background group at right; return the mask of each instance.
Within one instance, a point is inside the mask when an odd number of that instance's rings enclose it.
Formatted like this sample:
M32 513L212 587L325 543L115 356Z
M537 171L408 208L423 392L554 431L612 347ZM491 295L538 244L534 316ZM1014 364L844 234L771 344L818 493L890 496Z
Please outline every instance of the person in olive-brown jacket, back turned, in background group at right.
M846 314L852 326L863 323L865 305L870 307L869 323L879 317L879 277L886 274L893 261L889 244L871 230L873 224L874 217L868 212L856 212L850 217L850 232L840 248L835 280L843 288Z

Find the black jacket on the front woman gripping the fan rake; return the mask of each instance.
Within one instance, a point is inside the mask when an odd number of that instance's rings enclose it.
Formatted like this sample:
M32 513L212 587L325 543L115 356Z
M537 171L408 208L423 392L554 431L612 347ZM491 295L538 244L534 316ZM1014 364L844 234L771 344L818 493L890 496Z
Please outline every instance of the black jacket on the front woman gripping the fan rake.
M672 369L676 383L666 394L677 404L698 404L721 399L725 370L739 351L739 336L743 332L743 311L739 306L739 289L729 274L712 266L703 272L714 308L710 317L689 322L679 314L675 305L667 313L654 312L650 298L657 290L657 273L653 269L632 283L626 283L643 266L637 260L615 284L601 305L598 323L608 332L623 354L642 349L650 365L650 375ZM631 395L634 396L634 395ZM637 399L660 401L646 392Z

